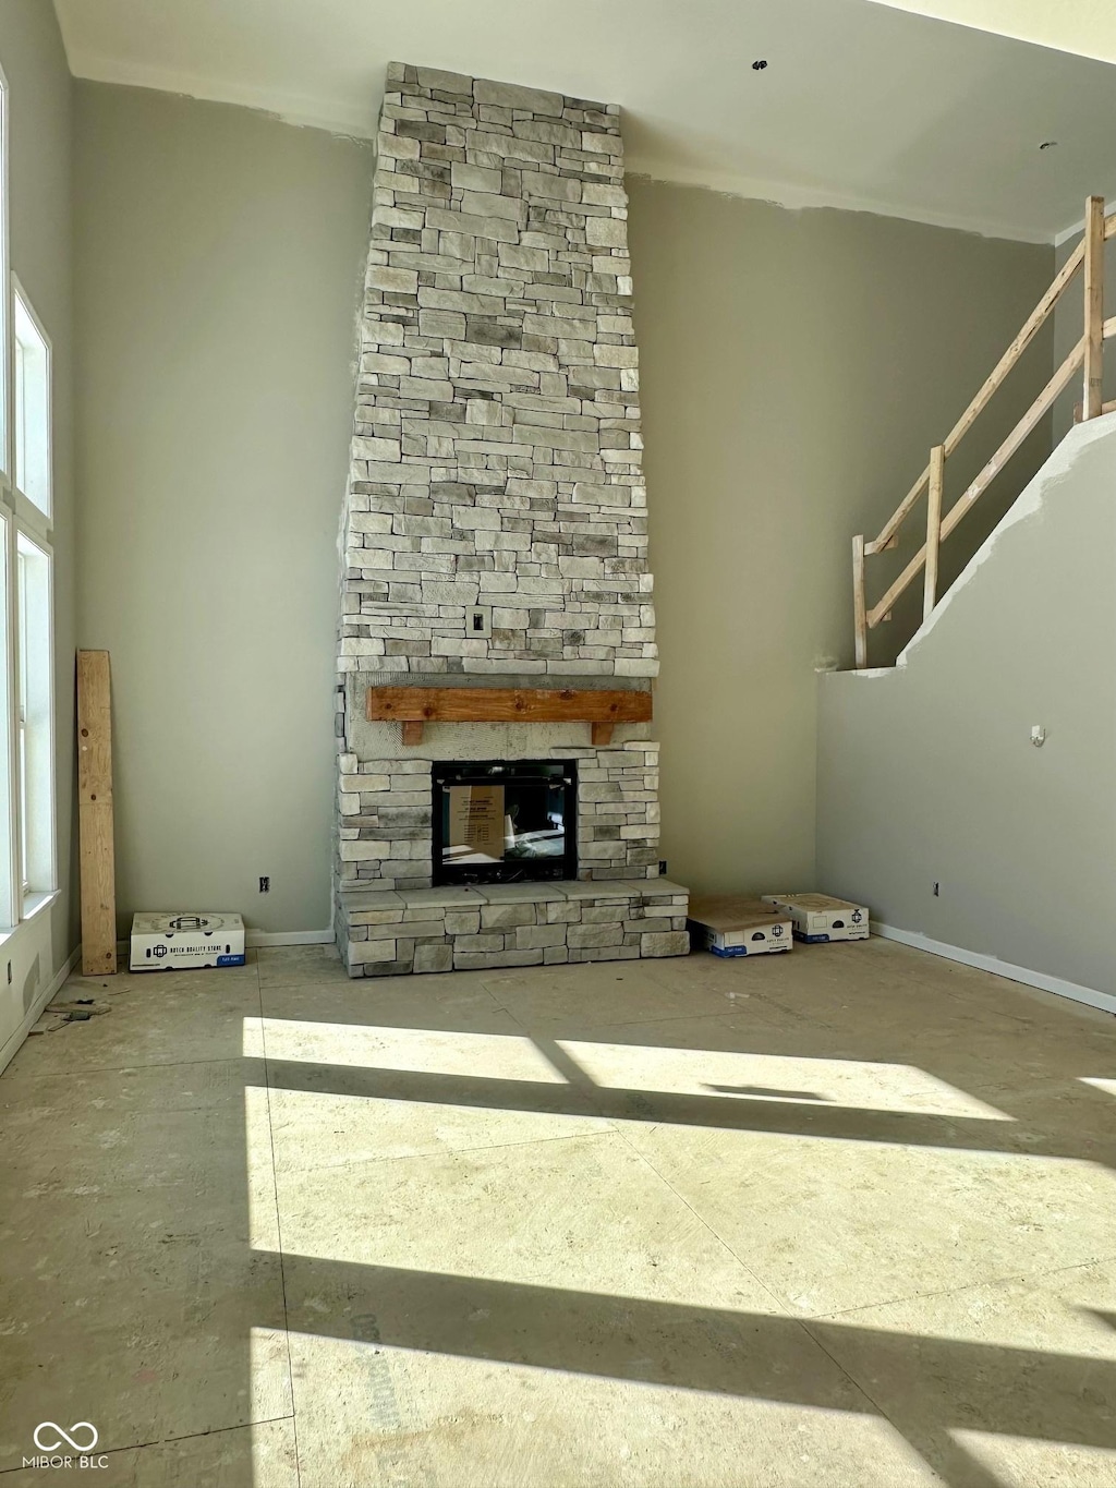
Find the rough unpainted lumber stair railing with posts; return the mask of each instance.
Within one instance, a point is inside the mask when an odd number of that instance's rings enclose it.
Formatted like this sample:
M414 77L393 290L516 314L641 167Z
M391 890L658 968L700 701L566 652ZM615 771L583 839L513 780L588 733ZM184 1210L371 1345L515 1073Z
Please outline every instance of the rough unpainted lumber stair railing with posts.
M1000 357L1000 362L985 381L981 391L957 420L945 440L940 445L934 445L930 451L930 463L894 509L891 516L888 516L884 522L879 530L879 536L870 542L863 536L853 539L853 625L856 634L857 668L868 665L869 631L879 625L881 620L891 618L891 609L896 600L906 592L920 571L924 571L923 619L930 619L939 598L937 574L942 542L952 533L978 497L988 490L994 476L1003 469L1007 460L1010 460L1024 439L1027 439L1027 436L1036 429L1043 415L1051 411L1055 399L1070 385L1077 372L1083 372L1083 385L1082 403L1077 408L1076 417L1098 418L1101 414L1116 411L1116 403L1103 402L1101 391L1104 373L1104 342L1110 336L1116 336L1116 317L1112 320L1104 318L1104 244L1113 237L1116 237L1116 213L1106 219L1104 198L1089 196L1085 204L1085 234L1082 241L1073 250L1070 257L1055 275L1051 287L1027 317L1022 330ZM949 460L949 457L955 452L957 446L991 402L992 394L1003 384L1015 363L1042 330L1054 311L1054 307L1073 283L1079 269L1085 271L1085 332L1080 341L1065 357L1062 365L995 451L984 470L981 470L972 485L958 497L949 510L942 515L946 460ZM923 491L927 493L926 542L894 580L891 588L884 594L879 603L869 607L865 591L865 562L868 558L873 558L876 554L887 552L896 546L899 540L899 528L917 506Z

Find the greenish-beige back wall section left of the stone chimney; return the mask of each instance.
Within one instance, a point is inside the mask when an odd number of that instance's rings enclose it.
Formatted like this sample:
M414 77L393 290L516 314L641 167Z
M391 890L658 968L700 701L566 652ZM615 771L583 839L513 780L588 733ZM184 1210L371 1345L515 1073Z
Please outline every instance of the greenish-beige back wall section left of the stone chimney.
M85 82L74 140L79 616L113 661L121 921L320 930L371 146Z

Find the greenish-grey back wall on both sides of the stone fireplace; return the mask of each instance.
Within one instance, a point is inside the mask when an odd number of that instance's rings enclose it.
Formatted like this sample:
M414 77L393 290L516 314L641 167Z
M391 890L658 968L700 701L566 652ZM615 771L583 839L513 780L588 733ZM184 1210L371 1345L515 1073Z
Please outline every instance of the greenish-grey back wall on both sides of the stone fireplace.
M207 900L321 927L371 156L140 89L79 83L76 112L80 634L113 652L121 911ZM897 503L1052 250L629 187L664 856L693 888L806 882L814 667L850 659L850 539ZM955 490L1051 356L1036 345ZM1018 484L1009 470L946 570ZM914 597L875 655L912 629Z

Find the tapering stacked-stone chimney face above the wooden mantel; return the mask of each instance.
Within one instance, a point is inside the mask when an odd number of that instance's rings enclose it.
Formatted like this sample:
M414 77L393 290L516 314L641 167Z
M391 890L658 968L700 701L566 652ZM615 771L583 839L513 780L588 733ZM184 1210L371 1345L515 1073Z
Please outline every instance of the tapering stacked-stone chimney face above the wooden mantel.
M656 671L626 214L616 106L388 67L342 671Z

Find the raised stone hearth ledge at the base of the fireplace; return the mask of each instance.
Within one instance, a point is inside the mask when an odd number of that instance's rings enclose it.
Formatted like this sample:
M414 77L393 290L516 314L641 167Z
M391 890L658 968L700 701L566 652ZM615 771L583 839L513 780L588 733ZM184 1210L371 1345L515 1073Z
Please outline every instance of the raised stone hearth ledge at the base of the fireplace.
M687 955L689 890L665 878L338 896L350 976Z

